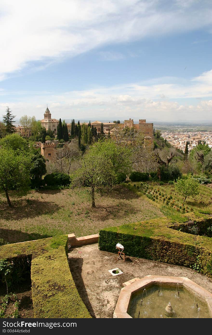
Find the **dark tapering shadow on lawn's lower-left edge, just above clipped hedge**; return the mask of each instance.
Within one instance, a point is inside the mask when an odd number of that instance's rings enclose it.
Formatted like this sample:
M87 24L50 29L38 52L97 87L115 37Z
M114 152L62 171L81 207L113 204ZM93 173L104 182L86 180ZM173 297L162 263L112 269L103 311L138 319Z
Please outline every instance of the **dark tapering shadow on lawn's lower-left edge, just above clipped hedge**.
M27 233L20 230L14 229L3 229L0 228L0 236L1 238L7 243L18 243L18 242L25 242L25 241L33 241L39 239L45 239L47 237L51 237L47 234L41 235L38 233Z

